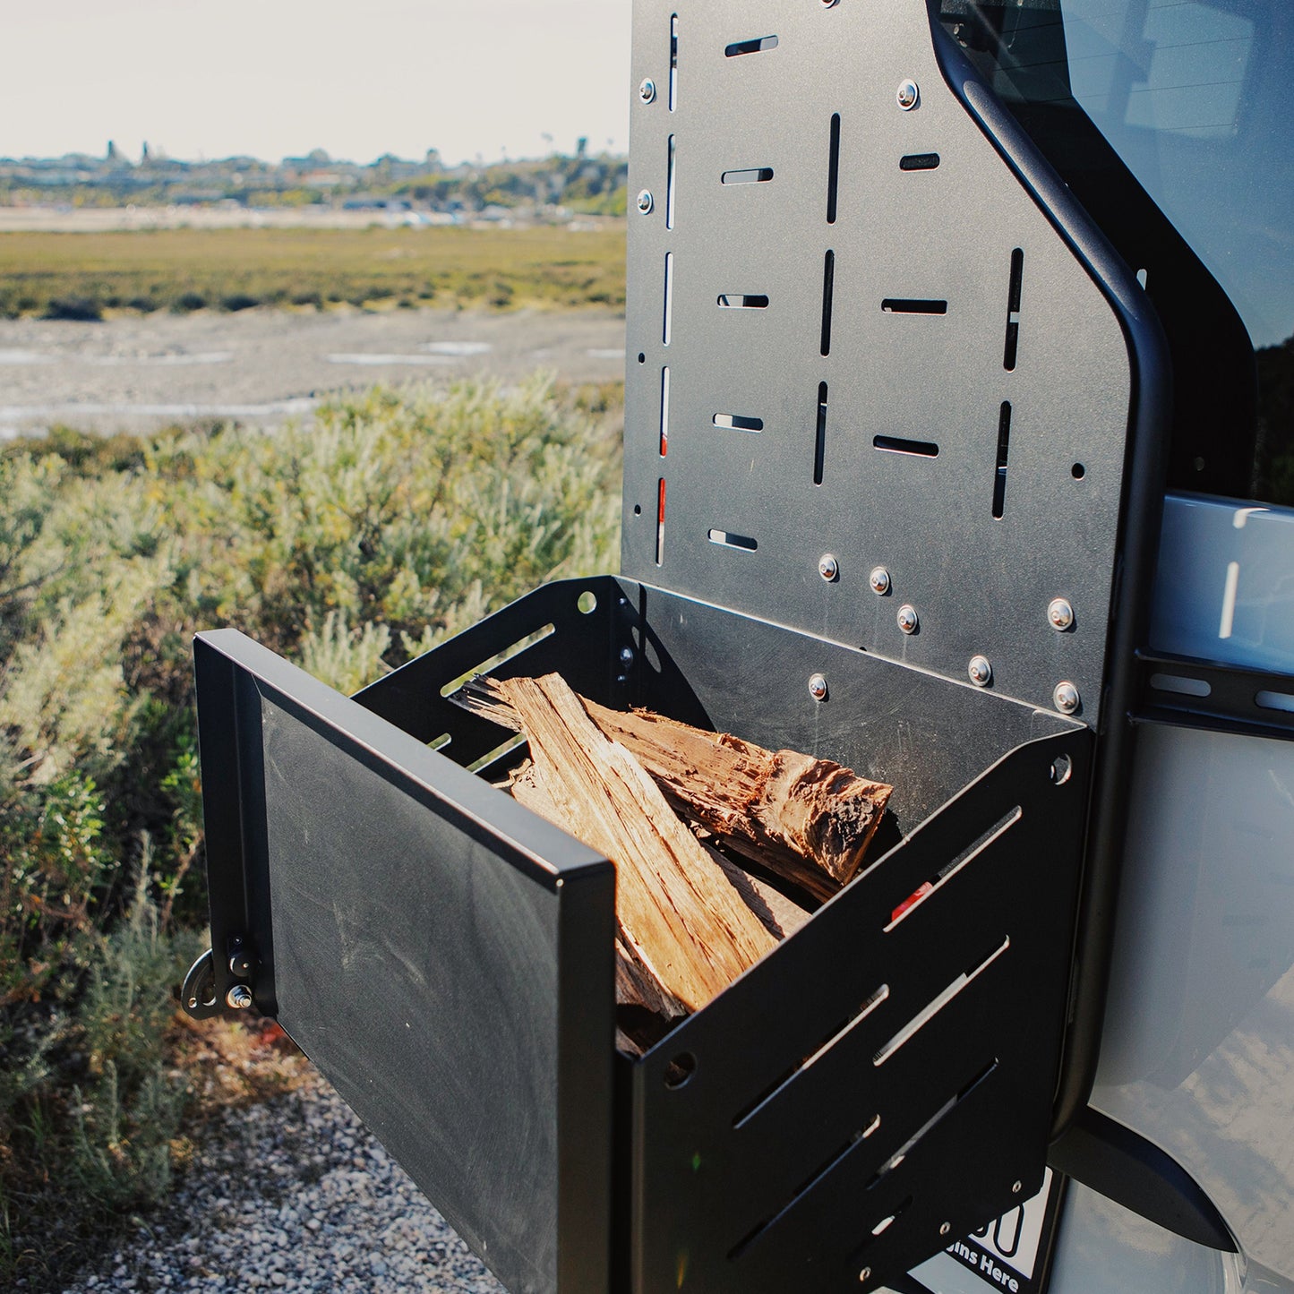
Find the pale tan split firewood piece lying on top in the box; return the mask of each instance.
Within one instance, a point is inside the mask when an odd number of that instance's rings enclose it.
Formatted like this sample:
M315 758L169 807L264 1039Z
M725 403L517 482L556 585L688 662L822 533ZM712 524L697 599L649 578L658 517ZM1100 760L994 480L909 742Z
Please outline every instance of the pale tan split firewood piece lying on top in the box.
M514 795L524 804L527 788L541 785L556 826L616 864L616 915L626 942L674 998L700 1009L776 937L559 677L501 686L531 739L533 766Z

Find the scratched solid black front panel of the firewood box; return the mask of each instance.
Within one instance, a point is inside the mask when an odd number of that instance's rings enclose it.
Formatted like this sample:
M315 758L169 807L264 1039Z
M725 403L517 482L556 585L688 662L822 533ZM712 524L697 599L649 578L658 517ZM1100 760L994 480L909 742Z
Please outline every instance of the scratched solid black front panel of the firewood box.
M254 703L199 716L245 774L206 783L216 946L254 895L258 1004L510 1290L604 1288L611 864L241 634L198 661Z

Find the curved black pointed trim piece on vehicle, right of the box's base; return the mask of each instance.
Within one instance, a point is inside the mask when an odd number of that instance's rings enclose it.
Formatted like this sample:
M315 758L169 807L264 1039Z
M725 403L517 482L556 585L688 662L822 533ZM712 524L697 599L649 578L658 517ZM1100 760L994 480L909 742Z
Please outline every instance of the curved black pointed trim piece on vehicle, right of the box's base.
M1052 1144L1047 1162L1175 1236L1240 1251L1203 1187L1172 1156L1100 1110L1087 1106Z

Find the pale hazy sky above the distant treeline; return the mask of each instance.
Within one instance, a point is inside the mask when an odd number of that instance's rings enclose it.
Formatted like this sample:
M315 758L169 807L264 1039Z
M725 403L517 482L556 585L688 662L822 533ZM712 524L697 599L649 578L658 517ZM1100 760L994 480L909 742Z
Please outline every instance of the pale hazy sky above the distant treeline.
M0 157L628 148L630 0L0 0Z

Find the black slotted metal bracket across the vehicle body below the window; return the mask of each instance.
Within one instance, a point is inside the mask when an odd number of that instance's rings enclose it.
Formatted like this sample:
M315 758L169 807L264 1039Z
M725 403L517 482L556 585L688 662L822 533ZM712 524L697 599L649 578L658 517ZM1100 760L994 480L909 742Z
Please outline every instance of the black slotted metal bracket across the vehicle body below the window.
M1294 739L1294 678L1193 656L1137 652L1134 722Z

